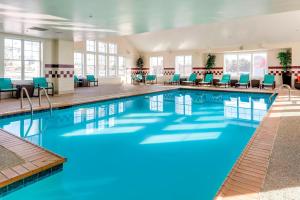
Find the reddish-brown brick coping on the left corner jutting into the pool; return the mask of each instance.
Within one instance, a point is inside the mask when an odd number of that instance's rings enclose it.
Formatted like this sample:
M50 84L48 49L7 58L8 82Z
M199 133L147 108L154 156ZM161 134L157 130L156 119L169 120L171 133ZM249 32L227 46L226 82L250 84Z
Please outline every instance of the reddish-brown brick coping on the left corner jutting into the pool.
M0 188L59 166L65 158L0 129L1 145L14 152L24 163L0 171Z

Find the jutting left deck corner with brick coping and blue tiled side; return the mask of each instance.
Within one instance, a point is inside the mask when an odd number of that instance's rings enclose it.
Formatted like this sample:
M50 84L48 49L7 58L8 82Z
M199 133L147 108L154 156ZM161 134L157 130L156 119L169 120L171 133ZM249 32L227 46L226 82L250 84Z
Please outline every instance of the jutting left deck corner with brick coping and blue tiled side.
M12 155L18 157L15 165L1 167L0 197L54 173L65 162L64 158L3 130L0 130L0 145L6 149L6 159Z

